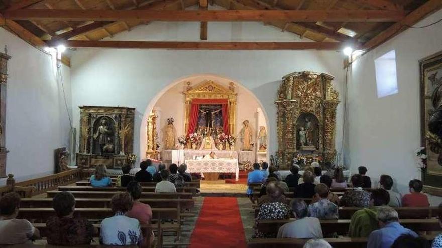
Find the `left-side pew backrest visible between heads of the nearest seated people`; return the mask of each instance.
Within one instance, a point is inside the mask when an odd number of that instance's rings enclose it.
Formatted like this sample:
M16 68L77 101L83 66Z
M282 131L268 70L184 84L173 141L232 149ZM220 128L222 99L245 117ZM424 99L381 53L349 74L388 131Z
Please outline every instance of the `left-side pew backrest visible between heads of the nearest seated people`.
M140 202L149 204L152 208L178 208L189 209L195 206L193 199L140 199ZM51 208L51 198L22 198L20 207ZM109 208L111 199L75 199L78 208Z

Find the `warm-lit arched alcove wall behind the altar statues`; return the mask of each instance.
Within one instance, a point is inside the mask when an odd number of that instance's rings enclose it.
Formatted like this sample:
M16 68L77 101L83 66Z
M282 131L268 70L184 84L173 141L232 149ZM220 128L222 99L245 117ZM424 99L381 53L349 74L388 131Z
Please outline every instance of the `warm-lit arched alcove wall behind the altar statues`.
M176 135L181 136L185 134L185 97L184 92L197 87L198 85L204 84L208 81L212 81L223 87L229 88L234 87L234 91L237 94L237 106L236 106L236 116L235 116L235 128L233 135L238 137L238 133L242 128L242 122L244 120L249 120L251 126L253 127L253 132L256 134L254 137L255 142L255 155L259 147L258 144L258 133L260 126L265 126L269 129L269 120L267 114L265 113L264 107L259 101L259 99L247 88L242 86L236 80L232 80L227 77L214 75L214 74L196 74L187 77L179 78L171 82L167 87L165 87L161 92L159 92L146 107L143 119L140 126L140 155L141 158L145 157L147 150L147 120L152 110L155 110L158 116L157 122L157 132L158 141L163 146L163 136L164 127L167 123L168 118L174 118L174 126L176 129ZM237 141L238 143L239 141ZM267 131L267 144L269 144L269 132ZM162 147L160 147L160 150ZM236 145L236 150L240 149L239 145ZM267 153L258 155L260 160L269 160L269 149Z

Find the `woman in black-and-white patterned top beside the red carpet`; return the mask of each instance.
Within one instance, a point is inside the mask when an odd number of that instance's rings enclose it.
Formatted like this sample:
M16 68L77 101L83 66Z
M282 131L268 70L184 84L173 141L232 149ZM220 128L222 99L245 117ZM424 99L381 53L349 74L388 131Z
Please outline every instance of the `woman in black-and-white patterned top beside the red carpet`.
M270 184L272 185L272 184ZM259 208L258 216L255 221L262 219L289 219L290 218L290 207L280 202L282 196L282 190L279 187L268 186L268 194L270 195L270 202L262 204ZM254 238L275 238L275 233L262 233L259 231L255 232Z

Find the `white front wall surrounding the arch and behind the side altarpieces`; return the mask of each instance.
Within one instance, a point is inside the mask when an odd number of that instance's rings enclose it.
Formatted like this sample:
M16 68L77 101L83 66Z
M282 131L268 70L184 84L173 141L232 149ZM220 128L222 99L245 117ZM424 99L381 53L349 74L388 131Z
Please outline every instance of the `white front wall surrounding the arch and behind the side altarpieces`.
M154 22L112 39L194 41L198 38L199 23ZM283 33L261 23L209 23L211 41L298 39L292 33ZM325 72L336 77L334 83L341 92L342 59L343 56L336 51L78 49L71 60L74 126L78 128L78 106L81 105L135 107L134 151L139 156L140 151L141 154L145 151L145 147L140 147L140 143L145 144L146 139L143 115L151 100L172 82L180 82L189 75L208 73L229 78L257 97L269 117L269 151L273 154L277 149L274 101L281 78L294 71ZM341 106L338 108L337 119L339 151L342 137Z

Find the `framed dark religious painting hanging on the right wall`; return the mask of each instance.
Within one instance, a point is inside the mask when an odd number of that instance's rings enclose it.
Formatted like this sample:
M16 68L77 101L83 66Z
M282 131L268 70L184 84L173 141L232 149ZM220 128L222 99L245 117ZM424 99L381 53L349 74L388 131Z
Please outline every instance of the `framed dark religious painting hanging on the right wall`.
M425 192L442 196L442 52L419 61L421 145Z

